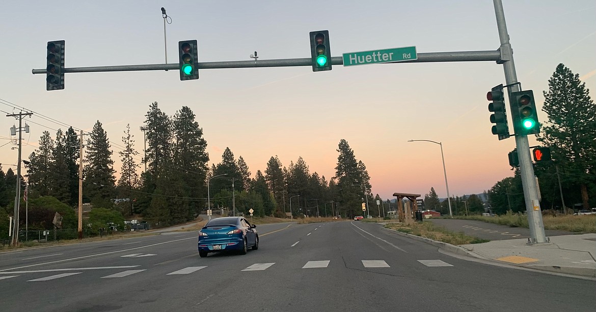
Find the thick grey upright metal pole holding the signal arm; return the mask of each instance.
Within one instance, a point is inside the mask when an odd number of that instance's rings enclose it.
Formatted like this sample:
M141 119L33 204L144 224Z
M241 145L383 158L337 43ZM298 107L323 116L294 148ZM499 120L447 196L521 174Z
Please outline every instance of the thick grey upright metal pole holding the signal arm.
M514 84L507 88L508 94L521 91L517 84L516 67L513 62L513 50L509 42L507 33L507 24L505 24L505 13L501 0L493 0L495 6L496 26L499 30L499 39L501 40L501 64L505 71L505 81L507 85ZM510 101L510 111L517 109ZM538 199L538 188L536 188L536 179L534 178L534 168L530 158L530 144L527 135L516 135L517 155L519 157L520 176L522 177L524 200L526 201L527 223L530 228L530 238L528 244L544 244L548 242L544 234L544 223L542 223L542 212L540 201Z

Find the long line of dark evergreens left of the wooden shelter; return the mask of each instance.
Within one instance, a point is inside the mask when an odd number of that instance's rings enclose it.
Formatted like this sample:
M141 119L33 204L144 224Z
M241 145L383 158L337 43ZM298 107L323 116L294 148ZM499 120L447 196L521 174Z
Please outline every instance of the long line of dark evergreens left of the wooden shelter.
M235 158L229 148L224 150L221 162L208 167L203 130L187 106L168 116L154 102L145 117L147 149L144 157L135 149L130 125L123 133L122 144L108 140L100 121L83 138L72 127L66 133L59 129L55 138L44 131L39 147L24 161L29 201L39 201L30 209L44 210L38 213L39 218L43 215L42 219L53 217L49 211L52 209L76 209L80 144L85 146L83 202L91 203L93 209L114 210L127 218L140 216L159 226L187 222L205 213L209 206L207 183L210 206L236 215L248 215L253 209L255 216L288 218L291 212L294 217L339 215L351 218L362 214L361 203L365 197L374 201L366 166L356 159L345 140L340 141L337 149L336 175L329 180L317 172L311 173L302 157L286 167L277 156L269 159L264 173L257 171L252 177L243 157ZM122 160L117 181L113 146L120 149L118 155ZM141 166L147 169L139 175ZM11 169L4 174L0 168L0 178L0 207L2 213L11 215L16 177ZM60 213L67 213L70 220L70 212ZM31 216L29 223L36 224L33 228L51 228L51 222L35 220L36 213ZM66 226L76 226L76 222L67 222Z

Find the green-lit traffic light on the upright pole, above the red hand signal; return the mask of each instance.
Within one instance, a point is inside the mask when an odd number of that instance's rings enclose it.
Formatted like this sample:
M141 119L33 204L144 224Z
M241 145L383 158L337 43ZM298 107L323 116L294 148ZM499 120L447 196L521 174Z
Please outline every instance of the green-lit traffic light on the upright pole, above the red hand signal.
M540 123L532 90L511 92L511 115L516 135L540 133Z

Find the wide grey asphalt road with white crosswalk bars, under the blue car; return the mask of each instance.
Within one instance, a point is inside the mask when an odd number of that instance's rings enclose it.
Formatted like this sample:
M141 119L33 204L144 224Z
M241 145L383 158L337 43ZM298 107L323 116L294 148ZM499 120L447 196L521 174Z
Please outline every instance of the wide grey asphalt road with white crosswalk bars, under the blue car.
M195 232L0 254L2 311L592 311L596 282L468 261L376 223L259 225L259 250Z

